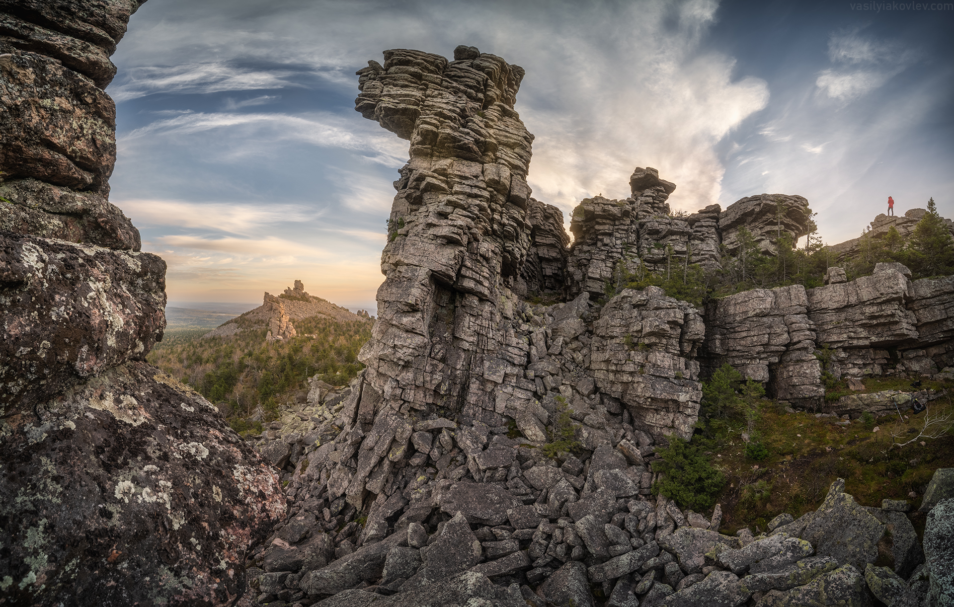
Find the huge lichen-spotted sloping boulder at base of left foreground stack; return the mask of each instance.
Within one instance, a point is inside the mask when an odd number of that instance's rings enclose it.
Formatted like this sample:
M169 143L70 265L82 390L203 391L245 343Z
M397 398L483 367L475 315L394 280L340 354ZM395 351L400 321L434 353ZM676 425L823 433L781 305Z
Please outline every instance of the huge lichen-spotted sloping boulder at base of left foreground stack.
M144 363L14 409L3 428L0 579L17 603L229 604L245 551L284 518L274 472Z

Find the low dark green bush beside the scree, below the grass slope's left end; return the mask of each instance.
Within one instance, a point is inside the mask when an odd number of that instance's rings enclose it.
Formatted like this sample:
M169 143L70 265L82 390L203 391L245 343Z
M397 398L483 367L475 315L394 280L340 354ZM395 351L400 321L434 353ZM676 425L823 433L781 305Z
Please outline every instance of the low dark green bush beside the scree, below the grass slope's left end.
M668 438L669 447L658 450L662 461L653 463L653 471L663 474L653 483L653 493L662 493L683 508L712 508L716 495L725 487L725 475L712 467L709 457L698 447L676 436Z

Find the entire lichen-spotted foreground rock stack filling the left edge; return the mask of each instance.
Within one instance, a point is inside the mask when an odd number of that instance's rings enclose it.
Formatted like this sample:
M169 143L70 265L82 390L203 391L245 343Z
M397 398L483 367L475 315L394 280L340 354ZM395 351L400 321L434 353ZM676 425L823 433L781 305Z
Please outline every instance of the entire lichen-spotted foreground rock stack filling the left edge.
M165 269L108 200L140 2L0 2L0 602L234 602L275 473L144 359Z

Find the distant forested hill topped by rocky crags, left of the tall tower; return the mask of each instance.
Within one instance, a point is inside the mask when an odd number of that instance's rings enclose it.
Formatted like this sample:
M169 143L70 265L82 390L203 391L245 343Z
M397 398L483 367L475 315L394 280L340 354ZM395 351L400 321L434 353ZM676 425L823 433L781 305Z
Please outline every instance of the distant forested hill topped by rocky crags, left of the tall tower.
M239 431L260 431L280 407L302 400L308 377L332 386L351 381L363 369L358 351L374 324L363 310L309 295L301 281L279 296L265 293L237 317L177 306L166 313L172 331L149 362L196 388Z

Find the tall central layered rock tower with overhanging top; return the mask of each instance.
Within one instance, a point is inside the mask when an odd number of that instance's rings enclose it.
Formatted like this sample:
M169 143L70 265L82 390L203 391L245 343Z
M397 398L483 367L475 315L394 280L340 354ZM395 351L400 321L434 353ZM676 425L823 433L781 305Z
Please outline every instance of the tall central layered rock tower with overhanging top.
M380 408L494 411L494 387L526 361L510 323L537 204L526 180L532 136L513 110L524 71L471 54L385 51L384 66L359 72L356 109L410 140L379 318L360 357Z

